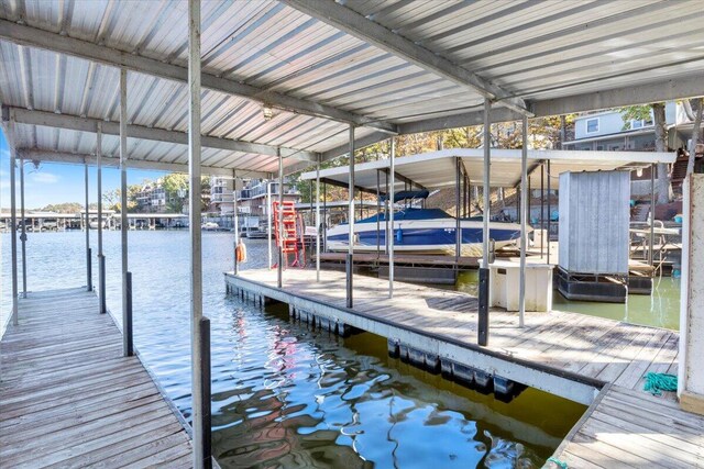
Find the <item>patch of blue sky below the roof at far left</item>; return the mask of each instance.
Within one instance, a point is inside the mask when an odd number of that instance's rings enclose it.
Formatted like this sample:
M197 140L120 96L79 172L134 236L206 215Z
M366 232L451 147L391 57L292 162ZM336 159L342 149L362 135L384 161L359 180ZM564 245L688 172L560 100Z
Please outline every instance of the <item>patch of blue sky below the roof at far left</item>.
M144 179L157 179L164 171L128 170L128 185L140 183ZM18 208L20 204L20 171L16 172ZM89 200L97 202L96 168L88 167ZM120 187L120 171L117 168L102 168L102 190L107 192ZM84 203L84 166L57 163L42 163L34 168L31 163L24 166L24 204L28 210L40 209L50 203ZM10 149L0 127L0 206L10 208Z

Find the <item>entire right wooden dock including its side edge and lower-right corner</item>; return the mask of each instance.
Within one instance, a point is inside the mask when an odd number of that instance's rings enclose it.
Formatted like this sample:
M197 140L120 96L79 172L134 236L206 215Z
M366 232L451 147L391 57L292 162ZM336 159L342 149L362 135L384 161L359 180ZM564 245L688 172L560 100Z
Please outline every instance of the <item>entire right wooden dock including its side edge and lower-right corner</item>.
M344 273L289 269L226 276L230 290L264 295L343 321L487 372L591 404L556 451L570 468L704 467L704 420L679 409L671 392L642 391L645 376L676 375L679 333L552 311L492 311L490 345L476 345L476 299L455 291L354 276L354 308L345 308Z

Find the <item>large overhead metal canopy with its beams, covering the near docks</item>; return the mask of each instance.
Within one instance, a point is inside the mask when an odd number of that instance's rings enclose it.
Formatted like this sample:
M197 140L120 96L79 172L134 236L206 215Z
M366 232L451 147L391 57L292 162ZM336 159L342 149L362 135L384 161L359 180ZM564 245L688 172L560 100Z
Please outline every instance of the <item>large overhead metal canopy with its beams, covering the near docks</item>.
M388 138L704 96L701 2L209 1L204 172L288 172ZM120 68L133 167L186 170L183 2L0 0L0 102L33 159L118 155ZM672 29L676 24L676 29ZM262 104L273 108L264 119ZM30 153L31 152L31 153ZM497 155L496 150L493 150Z

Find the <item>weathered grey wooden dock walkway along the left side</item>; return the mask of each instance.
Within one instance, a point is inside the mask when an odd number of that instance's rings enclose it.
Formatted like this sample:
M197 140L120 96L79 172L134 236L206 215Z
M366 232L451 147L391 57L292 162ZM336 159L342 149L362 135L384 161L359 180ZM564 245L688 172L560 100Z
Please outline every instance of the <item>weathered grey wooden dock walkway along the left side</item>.
M0 342L0 466L191 467L190 438L85 289L30 293Z

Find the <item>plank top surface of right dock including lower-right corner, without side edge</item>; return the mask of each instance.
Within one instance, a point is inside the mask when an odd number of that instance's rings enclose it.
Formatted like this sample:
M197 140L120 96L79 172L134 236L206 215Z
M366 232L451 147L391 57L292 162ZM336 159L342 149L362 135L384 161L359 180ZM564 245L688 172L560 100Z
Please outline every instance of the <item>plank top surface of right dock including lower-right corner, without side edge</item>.
M244 279L276 284L276 272L244 270ZM344 308L344 273L284 272L284 290ZM464 293L355 276L353 310L452 340L476 344L476 300ZM704 467L704 417L680 410L674 393L642 391L649 371L675 373L679 333L602 317L553 311L492 311L492 353L517 357L556 372L568 371L605 382L587 413L554 456L570 468ZM547 466L550 467L550 466ZM554 466L557 467L557 466Z

